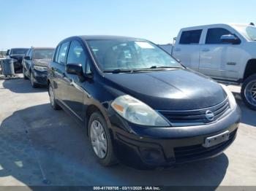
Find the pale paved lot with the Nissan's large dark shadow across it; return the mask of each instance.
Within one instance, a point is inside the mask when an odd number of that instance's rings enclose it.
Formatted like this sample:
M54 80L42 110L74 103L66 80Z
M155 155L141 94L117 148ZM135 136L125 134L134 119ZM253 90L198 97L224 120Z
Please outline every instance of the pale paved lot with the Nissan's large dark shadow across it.
M94 160L82 127L53 111L45 87L0 80L0 185L256 185L256 112L244 106L236 141L222 155L172 168L105 168Z

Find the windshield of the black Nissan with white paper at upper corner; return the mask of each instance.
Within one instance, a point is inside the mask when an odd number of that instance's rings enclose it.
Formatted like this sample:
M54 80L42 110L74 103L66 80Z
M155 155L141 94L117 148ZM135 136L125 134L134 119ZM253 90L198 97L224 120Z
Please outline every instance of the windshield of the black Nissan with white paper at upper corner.
M143 40L88 40L103 71L183 68L171 55Z

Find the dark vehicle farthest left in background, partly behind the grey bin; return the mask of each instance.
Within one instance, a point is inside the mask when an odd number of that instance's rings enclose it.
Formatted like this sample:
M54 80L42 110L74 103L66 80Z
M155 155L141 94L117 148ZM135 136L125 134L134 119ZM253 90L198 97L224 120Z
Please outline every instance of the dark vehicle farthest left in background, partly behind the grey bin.
M15 72L21 71L22 69L22 59L23 56L26 55L26 52L28 51L28 48L12 48L10 50L7 50L7 58L14 59L14 70Z

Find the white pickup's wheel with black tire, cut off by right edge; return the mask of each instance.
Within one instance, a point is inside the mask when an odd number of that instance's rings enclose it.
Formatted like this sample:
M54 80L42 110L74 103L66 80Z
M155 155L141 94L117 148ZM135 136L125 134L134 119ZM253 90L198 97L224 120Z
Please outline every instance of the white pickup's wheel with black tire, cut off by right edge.
M256 110L256 74L244 80L241 87L241 98L249 109Z

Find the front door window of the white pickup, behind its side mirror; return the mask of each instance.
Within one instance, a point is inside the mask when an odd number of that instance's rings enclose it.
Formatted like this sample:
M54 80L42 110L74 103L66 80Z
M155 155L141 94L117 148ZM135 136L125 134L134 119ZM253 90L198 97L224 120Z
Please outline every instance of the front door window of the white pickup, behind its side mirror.
M209 28L206 35L206 44L225 44L221 42L222 35L231 34L225 28Z

